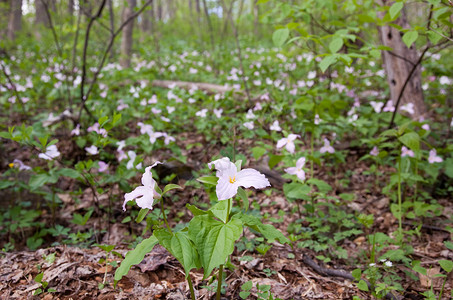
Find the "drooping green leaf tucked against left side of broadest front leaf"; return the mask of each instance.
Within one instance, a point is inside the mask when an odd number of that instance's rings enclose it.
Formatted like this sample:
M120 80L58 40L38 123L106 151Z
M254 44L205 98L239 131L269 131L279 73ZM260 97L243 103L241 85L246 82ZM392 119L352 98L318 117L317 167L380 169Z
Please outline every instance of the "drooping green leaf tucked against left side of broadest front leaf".
M172 234L167 229L158 229L154 231L154 235L159 243L181 263L186 279L189 277L190 270L200 268L198 252L187 232L179 231Z

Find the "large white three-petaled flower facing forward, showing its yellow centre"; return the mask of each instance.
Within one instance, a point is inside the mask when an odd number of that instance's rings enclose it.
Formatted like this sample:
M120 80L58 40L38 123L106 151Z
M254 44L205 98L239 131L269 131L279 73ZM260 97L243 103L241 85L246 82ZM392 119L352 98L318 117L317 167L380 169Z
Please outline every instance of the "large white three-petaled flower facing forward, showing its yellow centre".
M228 157L215 160L208 164L209 168L217 170L216 176L219 178L216 186L217 199L227 200L237 194L240 186L262 189L271 186L269 180L254 169L244 169L238 172L234 163Z

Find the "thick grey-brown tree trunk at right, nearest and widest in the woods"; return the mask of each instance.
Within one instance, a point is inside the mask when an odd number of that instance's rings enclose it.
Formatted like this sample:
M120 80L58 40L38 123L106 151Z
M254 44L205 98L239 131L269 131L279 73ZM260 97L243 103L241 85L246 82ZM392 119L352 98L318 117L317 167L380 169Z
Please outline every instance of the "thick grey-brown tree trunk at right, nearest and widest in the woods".
M393 1L389 0L378 0L377 2L381 6L389 6L393 3ZM395 23L402 28L409 28L404 8ZM392 26L382 26L378 30L382 44L393 49L391 53L389 51L382 52L387 81L390 86L390 98L393 104L396 105L401 90L406 80L408 80L398 107L401 108L402 105L412 103L414 105L414 113L411 117L418 120L420 116L426 113L426 106L423 101L420 65L417 66L412 72L410 79L408 79L418 60L415 45L412 44L410 48L407 48L402 40L403 34Z

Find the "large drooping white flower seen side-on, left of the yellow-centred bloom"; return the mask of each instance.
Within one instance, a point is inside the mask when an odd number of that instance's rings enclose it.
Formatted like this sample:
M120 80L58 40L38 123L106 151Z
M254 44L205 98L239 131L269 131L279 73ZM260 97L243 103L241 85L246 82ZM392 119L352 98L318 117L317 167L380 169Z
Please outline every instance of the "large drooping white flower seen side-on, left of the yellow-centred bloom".
M151 169L160 163L157 161L147 167L142 175L142 186L136 187L132 192L124 195L123 211L126 211L126 203L134 199L139 207L153 209L154 198L160 197L160 194L154 189L156 181L153 179Z

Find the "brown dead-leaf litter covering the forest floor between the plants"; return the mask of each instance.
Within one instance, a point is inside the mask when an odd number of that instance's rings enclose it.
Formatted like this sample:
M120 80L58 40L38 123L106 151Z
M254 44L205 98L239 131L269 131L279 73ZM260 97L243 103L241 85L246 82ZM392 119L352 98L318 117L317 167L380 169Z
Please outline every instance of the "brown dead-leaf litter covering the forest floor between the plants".
M190 135L190 134L189 134ZM59 148L65 151L63 142ZM177 139L183 140L183 139ZM194 141L203 142L203 137L186 136L185 142ZM249 141L237 141L238 152L241 149L250 147ZM201 143L203 144L203 143ZM13 147L13 145L11 145ZM181 149L186 149L180 145ZM215 147L217 148L217 147ZM194 169L206 164L210 159L219 152L219 149L207 149L207 147L197 146L187 150L187 165ZM19 153L19 149L16 149ZM71 151L67 146L66 151ZM14 153L14 150L12 151ZM217 152L217 153L216 153ZM20 152L23 153L23 152ZM245 153L243 151L242 153ZM13 155L13 154L12 154ZM22 154L27 155L27 154ZM152 160L165 159L168 153L158 152L153 154ZM156 156L156 157L154 157ZM389 211L389 198L375 190L376 178L373 175L365 175L368 169L363 161L359 161L360 155L354 151L350 152L344 169L315 169L316 178L328 182L334 190L332 193L340 194L344 192L355 194L355 200L348 205L348 210L352 213L366 213L374 215L374 225L371 232L383 232L392 235L398 228L398 221ZM258 167L260 162L250 158L250 167ZM346 168L347 165L347 168ZM345 170L351 170L346 175ZM332 174L335 176L332 176ZM366 172L365 172L366 173ZM368 173L367 173L368 174ZM139 180L137 175L137 182ZM282 191L282 182L284 180L275 174L273 191L271 196L266 196L262 192L254 193L253 201L257 201L261 207L261 214L268 214L279 218L279 211L284 214L280 222L275 222L274 226L282 232L286 232L288 224L295 219L304 219L304 215L298 216L295 209L296 203L289 203ZM350 180L347 187L340 187L338 181L342 178ZM179 180L181 186L184 180ZM66 186L67 190L74 190L75 182L59 183ZM71 187L69 189L69 187ZM122 194L114 187L109 191L111 195L116 195L116 199L122 199ZM168 205L171 210L169 219L179 217L181 221L190 220L190 212L185 208L189 199L194 196L199 197L199 202L208 202L208 196L200 189L185 187L182 191L177 192L178 201ZM60 213L52 220L50 212L44 212L41 216L41 222L47 224L54 222L63 224L71 228L71 231L77 232L86 229L80 225L69 222L74 213L81 212L83 209L93 207L109 207L109 196L98 195L99 203L96 203L95 197L90 189L86 188L79 199L69 194L60 194L64 206ZM111 197L111 196L110 196ZM76 201L77 200L77 201ZM440 216L430 218L420 229L420 236L413 239L410 243L414 249L411 254L413 259L421 261L421 265L429 267L439 259L451 260L453 252L446 250L443 241L451 239L450 233L443 230L442 225L453 213L453 203L451 199L437 199L439 204L443 205L444 211ZM326 200L327 201L327 200ZM122 224L125 213L121 210L122 200L119 200L113 208L111 220L117 220L117 223L110 222L106 224L106 212L95 210L92 217L86 224L94 229L106 228L101 231L102 234L95 236L97 243L116 245L115 250L123 257L129 251L128 245L133 241L131 235L140 235L143 230L142 225L134 222ZM184 215L181 213L184 212ZM174 225L175 223L173 223ZM309 224L307 224L309 226ZM409 222L404 225L406 230L414 229ZM99 232L99 230L98 230ZM27 233L23 233L27 236ZM244 236L249 240L254 238L253 233L246 230ZM21 243L21 241L17 241ZM181 265L162 247L155 247L151 253L146 255L144 261L133 266L128 275L120 280L116 287L113 285L113 276L115 269L110 264L102 262L106 257L106 252L98 247L80 247L80 246L50 246L52 242L46 241L49 247L38 249L36 251L12 251L2 253L0 256L0 298L1 299L189 299L190 294L187 282L184 279L184 270ZM24 241L22 241L25 244ZM357 258L360 253L366 256L370 246L367 237L360 234L353 240L343 240L341 247L348 253L351 259L332 259L330 262L323 263L316 258L319 253L310 249L299 248L288 245L273 243L272 248L265 253L259 254L257 251L237 249L232 256L234 269L226 270L226 293L224 299L240 299L239 292L241 285L251 280L254 288L251 290L250 298L256 299L256 284L269 285L274 298L281 299L352 299L358 296L360 299L374 299L368 292L360 291L357 284L351 280L350 273L356 268L364 269L364 265L356 265L358 261L364 261ZM26 249L26 247L23 247ZM247 257L247 259L243 259ZM109 261L121 262L121 258L109 255ZM429 290L431 287L438 293L442 287L442 278L432 279L432 275L439 273L439 267L429 269L427 276L416 274L409 270L404 264L394 263L393 271L398 274L402 280L401 285L404 287L404 294L395 293L393 299L424 299L420 292ZM342 270L340 272L329 272L329 270ZM44 272L43 281L48 283L45 291L39 296L32 296L33 292L42 288L41 283L34 279L37 274ZM406 273L412 272L418 280L410 279ZM334 273L334 274L332 274ZM341 276L334 276L334 275ZM431 276L430 276L431 275ZM201 272L192 272L194 287L197 290L197 299L214 299L215 291L209 289L211 283L203 280ZM452 273L447 278L443 299L448 299L453 288ZM55 289L54 292L48 292L49 289ZM267 298L266 298L267 299Z

